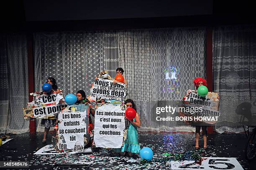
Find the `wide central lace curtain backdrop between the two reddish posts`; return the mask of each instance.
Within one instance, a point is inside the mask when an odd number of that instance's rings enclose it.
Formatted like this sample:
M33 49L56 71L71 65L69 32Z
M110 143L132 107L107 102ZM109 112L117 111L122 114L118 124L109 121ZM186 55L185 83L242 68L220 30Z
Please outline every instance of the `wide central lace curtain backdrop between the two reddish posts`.
M163 102L175 106L174 100L194 89L195 77L205 78L205 33L205 28L35 33L35 89L52 76L64 95L79 89L89 94L100 71L114 77L121 66L140 130L179 130L184 123L157 122L154 108Z

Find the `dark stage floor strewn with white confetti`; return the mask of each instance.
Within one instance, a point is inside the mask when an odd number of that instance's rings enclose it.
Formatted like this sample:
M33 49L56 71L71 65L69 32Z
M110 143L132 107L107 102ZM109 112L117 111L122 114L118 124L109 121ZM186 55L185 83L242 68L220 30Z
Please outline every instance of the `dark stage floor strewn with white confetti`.
M139 155L134 158L118 157L115 152L107 149L101 149L93 154L33 155L36 150L51 143L48 137L47 143L42 144L42 137L42 133L12 135L13 140L0 147L0 161L29 161L31 164L29 169L36 170L52 169L56 163L84 163L88 164L90 169L95 170L171 169L171 162L153 161L150 165L142 165ZM139 142L141 148L151 147L155 160L164 157L165 152L180 153L195 150L195 134L192 133L140 133ZM245 170L255 170L256 159L251 162L245 160L245 143L244 134L208 134L208 150L203 156L236 157ZM200 147L202 147L201 138Z

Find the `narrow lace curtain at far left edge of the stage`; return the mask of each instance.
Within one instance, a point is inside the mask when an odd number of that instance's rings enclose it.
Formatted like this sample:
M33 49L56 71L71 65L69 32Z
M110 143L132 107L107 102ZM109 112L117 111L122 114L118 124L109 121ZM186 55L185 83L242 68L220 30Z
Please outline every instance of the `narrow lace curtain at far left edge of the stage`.
M25 34L0 36L0 133L28 132L22 108L28 102L28 56Z

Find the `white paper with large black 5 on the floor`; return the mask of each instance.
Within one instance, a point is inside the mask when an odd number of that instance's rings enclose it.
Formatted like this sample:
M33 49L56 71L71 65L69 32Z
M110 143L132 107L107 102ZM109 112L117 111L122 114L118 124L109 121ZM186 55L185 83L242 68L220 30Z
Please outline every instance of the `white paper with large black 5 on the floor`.
M172 170L243 170L235 157L202 157L202 164L195 161L172 161Z

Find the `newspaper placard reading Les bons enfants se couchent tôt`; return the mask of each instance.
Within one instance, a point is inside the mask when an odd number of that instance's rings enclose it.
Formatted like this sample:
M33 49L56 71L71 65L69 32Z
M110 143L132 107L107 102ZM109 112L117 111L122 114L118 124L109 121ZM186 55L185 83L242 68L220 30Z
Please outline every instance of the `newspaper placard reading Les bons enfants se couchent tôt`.
M72 105L58 114L58 150L84 150L88 105Z

